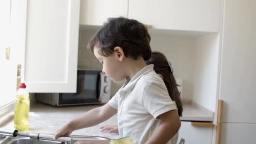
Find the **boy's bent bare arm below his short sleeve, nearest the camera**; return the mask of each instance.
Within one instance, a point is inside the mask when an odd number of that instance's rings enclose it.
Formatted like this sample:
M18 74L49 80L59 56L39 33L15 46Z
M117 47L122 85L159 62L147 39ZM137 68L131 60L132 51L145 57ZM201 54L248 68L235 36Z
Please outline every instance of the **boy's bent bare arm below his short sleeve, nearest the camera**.
M177 110L171 110L159 115L161 124L147 141L147 144L166 144L179 131L181 121Z

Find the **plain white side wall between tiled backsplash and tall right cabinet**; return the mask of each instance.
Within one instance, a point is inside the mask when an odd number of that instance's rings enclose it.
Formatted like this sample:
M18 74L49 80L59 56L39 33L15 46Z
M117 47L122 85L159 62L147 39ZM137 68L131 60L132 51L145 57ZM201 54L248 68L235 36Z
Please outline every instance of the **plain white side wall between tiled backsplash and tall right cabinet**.
M218 76L219 35L195 39L195 78L193 101L215 111Z

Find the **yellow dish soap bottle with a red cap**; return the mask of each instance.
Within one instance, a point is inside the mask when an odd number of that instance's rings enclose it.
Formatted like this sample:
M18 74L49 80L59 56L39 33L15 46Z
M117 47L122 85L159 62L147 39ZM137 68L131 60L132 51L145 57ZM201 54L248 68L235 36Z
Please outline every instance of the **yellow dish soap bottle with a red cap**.
M19 85L14 105L14 128L18 131L29 131L29 93L25 83Z

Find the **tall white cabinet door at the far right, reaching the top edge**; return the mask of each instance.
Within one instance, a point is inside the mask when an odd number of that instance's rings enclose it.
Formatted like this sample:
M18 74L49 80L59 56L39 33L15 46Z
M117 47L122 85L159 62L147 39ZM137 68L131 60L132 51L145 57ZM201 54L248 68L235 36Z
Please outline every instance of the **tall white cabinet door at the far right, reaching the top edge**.
M223 122L256 123L255 7L255 0L225 3L220 80Z

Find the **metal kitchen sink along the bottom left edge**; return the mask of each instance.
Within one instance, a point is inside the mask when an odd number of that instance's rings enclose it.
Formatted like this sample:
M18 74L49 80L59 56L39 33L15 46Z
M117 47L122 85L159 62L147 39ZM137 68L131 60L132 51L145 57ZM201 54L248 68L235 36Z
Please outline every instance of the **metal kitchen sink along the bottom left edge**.
M71 143L74 144L78 140L86 141L86 140L107 140L106 137L101 136L72 136L73 140ZM9 137L1 144L60 144L60 142L55 141L38 141L37 139L30 139L29 137L17 136L17 137ZM63 143L64 144L64 143Z

